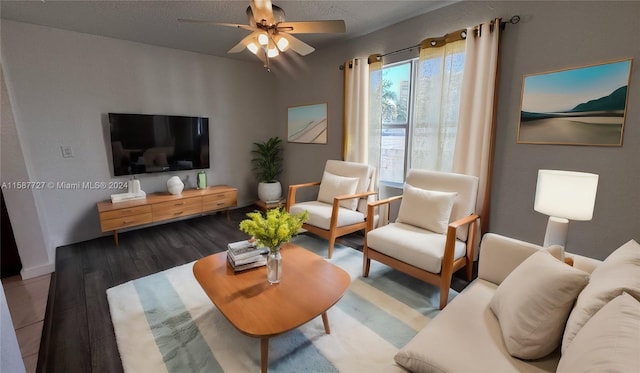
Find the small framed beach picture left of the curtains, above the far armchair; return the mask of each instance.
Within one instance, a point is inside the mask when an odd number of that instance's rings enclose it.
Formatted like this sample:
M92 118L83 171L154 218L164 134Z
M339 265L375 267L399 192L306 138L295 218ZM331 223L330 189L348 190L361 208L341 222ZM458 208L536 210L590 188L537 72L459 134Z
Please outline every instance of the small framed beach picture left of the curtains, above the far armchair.
M289 142L327 143L327 104L293 106L287 111Z

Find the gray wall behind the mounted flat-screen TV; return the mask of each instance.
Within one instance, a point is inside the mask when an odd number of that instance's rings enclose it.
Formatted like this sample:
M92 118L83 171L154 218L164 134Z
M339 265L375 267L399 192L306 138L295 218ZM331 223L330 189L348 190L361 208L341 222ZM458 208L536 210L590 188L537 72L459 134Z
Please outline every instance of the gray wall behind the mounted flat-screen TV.
M252 143L276 131L275 98L255 89L275 81L261 64L6 20L1 26L2 66L19 139L3 141L3 164L24 154L22 169L13 174L20 178L13 181L26 181L26 175L53 183L125 181L111 176L107 113L198 115L209 117L209 184L237 187L240 205L255 201ZM75 157L62 158L62 145L71 146ZM172 175L139 179L146 192L166 191ZM195 186L196 171L175 175ZM21 258L30 258L23 261L23 276L51 266L56 247L100 236L96 202L122 191L20 191L33 194L37 216L7 201L14 227L44 234L45 248L18 242Z

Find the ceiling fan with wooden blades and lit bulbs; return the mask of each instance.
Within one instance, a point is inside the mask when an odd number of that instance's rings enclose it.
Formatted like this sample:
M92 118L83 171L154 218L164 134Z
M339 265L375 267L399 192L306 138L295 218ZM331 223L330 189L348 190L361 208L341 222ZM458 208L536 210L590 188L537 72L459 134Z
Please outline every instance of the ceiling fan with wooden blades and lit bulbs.
M271 71L269 58L276 57L281 52L291 49L301 56L306 56L315 50L291 34L345 32L345 24L342 20L286 22L284 10L272 5L271 0L250 0L247 17L248 25L183 18L179 18L178 21L209 23L252 31L228 53L239 53L247 48L264 63L267 71Z

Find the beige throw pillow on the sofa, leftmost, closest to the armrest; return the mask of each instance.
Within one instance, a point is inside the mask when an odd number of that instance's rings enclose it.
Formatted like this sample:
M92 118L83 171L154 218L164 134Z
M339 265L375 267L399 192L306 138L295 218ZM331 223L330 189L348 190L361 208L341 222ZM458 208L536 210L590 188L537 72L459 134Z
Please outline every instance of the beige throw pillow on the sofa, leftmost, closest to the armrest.
M545 250L529 256L498 286L489 307L498 318L507 351L538 359L555 350L589 274Z

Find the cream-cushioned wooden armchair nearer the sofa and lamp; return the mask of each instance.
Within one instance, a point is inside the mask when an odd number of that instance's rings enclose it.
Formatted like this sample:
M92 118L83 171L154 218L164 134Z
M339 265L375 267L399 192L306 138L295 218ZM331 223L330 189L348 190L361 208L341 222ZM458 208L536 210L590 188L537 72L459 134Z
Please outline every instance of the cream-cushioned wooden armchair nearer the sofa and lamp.
M362 275L372 259L384 263L439 286L444 308L453 273L466 266L473 276L477 193L475 176L409 170L403 195L368 205ZM393 201L401 201L396 222L374 229L374 209Z

